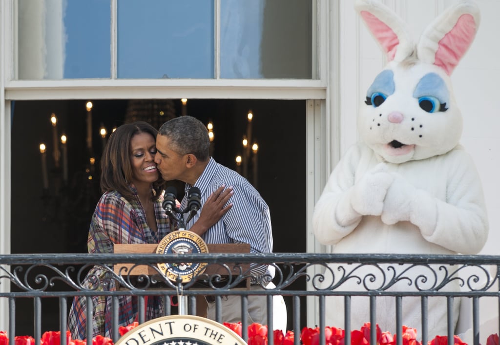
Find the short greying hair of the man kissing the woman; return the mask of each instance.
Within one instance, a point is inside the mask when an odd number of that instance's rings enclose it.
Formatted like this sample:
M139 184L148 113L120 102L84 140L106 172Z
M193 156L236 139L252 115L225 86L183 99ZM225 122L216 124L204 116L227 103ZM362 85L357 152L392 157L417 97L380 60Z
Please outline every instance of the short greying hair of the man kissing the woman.
M192 116L179 116L166 121L158 134L167 136L171 149L180 155L192 153L202 162L208 159L210 138L205 125Z

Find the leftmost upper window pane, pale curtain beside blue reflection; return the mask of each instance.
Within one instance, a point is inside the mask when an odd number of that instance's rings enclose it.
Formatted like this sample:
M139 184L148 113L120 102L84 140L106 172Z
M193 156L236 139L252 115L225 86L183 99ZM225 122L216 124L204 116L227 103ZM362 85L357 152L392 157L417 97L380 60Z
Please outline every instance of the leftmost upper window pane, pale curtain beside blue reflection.
M18 79L109 78L110 2L18 0Z

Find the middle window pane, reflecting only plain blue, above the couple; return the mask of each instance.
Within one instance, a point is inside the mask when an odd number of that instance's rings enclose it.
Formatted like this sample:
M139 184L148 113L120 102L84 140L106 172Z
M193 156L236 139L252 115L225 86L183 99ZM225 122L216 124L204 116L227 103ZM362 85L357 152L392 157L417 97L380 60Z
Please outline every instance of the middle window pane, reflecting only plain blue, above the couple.
M118 78L213 78L213 1L118 1Z

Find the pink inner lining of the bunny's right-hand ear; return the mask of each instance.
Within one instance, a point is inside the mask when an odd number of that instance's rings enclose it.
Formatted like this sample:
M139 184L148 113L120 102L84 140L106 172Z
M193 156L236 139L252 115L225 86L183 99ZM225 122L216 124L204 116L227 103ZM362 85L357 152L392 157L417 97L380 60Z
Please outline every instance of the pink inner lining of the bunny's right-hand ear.
M462 14L438 43L434 64L450 75L474 39L476 26L470 14Z

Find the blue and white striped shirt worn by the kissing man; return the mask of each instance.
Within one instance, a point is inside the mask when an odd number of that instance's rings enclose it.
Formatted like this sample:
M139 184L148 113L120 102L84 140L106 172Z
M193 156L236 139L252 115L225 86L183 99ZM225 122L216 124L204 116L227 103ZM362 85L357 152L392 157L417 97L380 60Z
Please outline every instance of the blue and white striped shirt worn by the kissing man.
M232 207L222 218L210 227L201 238L207 244L248 243L250 253L272 253L272 232L269 207L253 186L241 175L210 158L203 173L191 186L186 183L181 210L187 205L187 191L197 187L201 191L201 205L208 196L221 185L233 187L234 194L229 199ZM203 207L201 207L203 208ZM198 220L201 210L186 224L186 230ZM184 215L187 218L188 213ZM267 265L250 265L252 284L267 283L273 272Z

